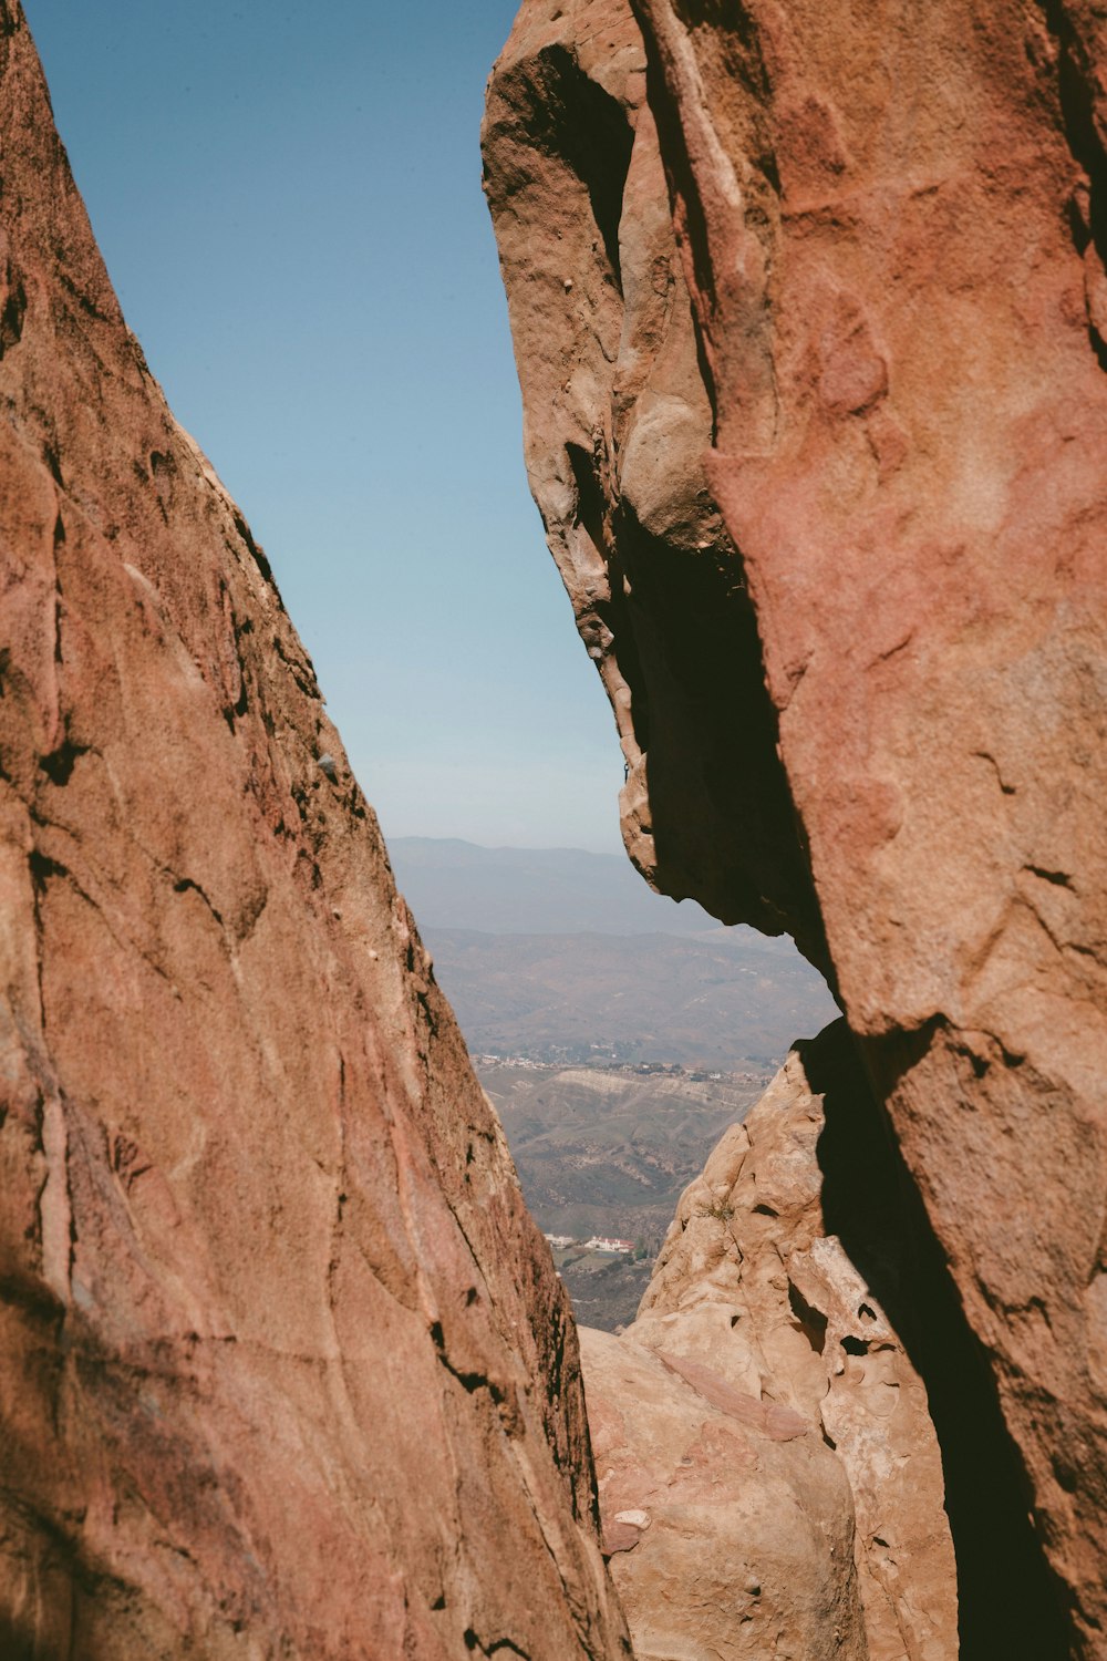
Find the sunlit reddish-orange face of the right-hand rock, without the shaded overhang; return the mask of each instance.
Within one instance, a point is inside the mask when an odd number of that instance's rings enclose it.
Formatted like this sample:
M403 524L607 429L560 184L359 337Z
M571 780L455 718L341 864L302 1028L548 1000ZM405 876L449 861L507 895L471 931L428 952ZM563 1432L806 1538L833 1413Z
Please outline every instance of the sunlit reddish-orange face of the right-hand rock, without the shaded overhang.
M994 1613L1017 1573L1009 1643L1099 1656L1102 7L637 10L830 958L1064 1628L1029 1543Z

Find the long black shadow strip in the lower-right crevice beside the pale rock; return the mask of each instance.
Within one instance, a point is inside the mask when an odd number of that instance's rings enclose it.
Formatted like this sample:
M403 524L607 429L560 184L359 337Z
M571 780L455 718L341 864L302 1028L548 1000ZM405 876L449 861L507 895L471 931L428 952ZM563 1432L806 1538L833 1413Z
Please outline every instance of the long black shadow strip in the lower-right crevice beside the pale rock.
M919 1053L933 1033L918 1035ZM958 1558L961 1661L1067 1661L1059 1591L996 1387L845 1022L797 1045L825 1096L823 1216L868 1281L926 1385Z

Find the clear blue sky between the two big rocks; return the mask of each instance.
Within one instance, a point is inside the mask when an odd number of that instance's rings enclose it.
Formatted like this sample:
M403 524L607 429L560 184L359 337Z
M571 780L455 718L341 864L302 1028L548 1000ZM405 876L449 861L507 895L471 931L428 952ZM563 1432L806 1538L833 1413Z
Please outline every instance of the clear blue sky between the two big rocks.
M617 849L480 191L514 0L25 0L153 372L264 543L385 834Z

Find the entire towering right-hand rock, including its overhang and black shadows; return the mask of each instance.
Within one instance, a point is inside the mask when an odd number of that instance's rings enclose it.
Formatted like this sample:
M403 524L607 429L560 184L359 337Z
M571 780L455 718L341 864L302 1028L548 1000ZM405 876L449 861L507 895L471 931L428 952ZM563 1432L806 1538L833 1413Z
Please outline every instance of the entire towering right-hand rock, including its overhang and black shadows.
M1102 7L636 15L644 55L614 0L528 0L485 138L627 844L840 993L905 1163L963 1654L1099 1656Z

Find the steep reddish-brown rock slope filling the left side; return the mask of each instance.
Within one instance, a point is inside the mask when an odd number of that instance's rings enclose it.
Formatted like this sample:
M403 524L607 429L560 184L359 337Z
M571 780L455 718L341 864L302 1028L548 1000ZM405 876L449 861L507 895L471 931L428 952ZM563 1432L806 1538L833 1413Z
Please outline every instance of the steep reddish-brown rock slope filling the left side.
M578 1349L0 3L0 1651L626 1654Z

